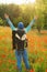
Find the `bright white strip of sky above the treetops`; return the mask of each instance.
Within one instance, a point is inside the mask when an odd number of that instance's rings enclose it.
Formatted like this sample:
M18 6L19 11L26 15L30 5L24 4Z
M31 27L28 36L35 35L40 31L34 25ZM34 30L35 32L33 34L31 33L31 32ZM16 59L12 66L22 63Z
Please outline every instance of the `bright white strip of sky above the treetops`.
M35 2L35 0L0 0L0 3L16 3L16 4L22 4L22 3L28 3L28 2Z

